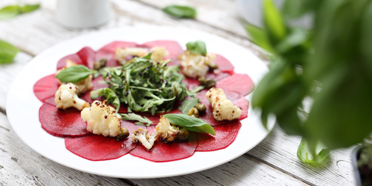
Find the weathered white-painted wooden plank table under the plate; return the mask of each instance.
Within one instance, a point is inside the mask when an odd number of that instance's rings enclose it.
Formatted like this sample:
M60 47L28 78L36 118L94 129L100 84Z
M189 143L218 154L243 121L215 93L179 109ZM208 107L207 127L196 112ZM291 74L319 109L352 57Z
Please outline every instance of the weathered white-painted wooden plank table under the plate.
M32 0L35 2L34 0ZM32 2L31 1L31 2ZM0 7L30 0L1 0ZM0 39L21 51L12 64L0 65L0 185L355 185L351 148L333 150L321 164L301 163L300 137L277 126L246 154L218 167L160 179L117 179L80 172L31 150L15 134L6 117L6 93L19 70L35 55L66 39L101 29L132 25L185 26L214 33L246 47L265 60L259 47L246 39L234 0L112 0L110 21L99 28L69 30L54 17L55 0L42 0L33 13L0 21ZM161 8L187 4L198 10L196 20L175 19ZM22 113L20 113L22 115ZM23 118L27 120L27 118Z

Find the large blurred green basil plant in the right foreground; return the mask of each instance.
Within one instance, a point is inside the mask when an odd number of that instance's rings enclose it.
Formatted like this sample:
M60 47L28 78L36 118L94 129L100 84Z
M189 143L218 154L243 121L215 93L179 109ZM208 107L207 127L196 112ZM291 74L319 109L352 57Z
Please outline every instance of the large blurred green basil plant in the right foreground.
M282 11L263 0L263 7L264 28L246 25L252 41L273 54L252 100L263 124L274 113L287 134L306 139L300 147L314 161L328 154L319 155L319 141L328 152L362 142L372 131L372 0L286 0ZM288 26L305 13L314 15L312 30Z

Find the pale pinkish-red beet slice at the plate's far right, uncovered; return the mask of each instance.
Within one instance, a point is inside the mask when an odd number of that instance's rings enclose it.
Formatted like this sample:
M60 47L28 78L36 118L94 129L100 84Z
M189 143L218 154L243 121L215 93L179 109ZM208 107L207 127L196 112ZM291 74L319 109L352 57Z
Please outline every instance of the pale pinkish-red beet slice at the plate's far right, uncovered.
M241 96L245 96L253 91L254 84L247 74L232 74L217 81L216 88L224 89L225 92L237 92Z

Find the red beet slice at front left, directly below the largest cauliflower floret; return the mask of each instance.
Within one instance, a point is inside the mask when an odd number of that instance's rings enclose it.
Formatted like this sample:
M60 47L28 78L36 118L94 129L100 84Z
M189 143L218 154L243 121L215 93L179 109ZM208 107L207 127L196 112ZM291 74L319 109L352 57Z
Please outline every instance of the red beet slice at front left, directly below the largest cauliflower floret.
M128 129L132 134L137 126L131 122L121 122L121 126ZM122 157L136 147L132 139L116 140L115 137L104 137L92 134L81 138L65 138L65 146L72 153L92 161L112 160Z

